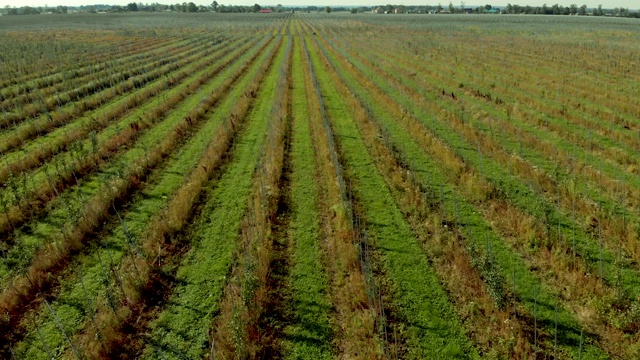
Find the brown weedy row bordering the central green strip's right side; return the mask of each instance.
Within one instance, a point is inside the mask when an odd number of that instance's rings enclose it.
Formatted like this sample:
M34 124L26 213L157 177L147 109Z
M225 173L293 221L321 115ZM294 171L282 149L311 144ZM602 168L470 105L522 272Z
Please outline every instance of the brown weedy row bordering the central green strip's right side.
M296 22L301 34L311 32ZM377 358L386 349L381 330L384 319L377 287L379 276L370 266L370 252L361 244L362 226L353 205L349 181L345 178L344 159L336 147L318 79L307 46L301 37L309 127L318 167L316 182L321 189L318 212L321 217L321 245L324 270L330 284L332 345L346 357ZM365 256L363 256L365 255Z

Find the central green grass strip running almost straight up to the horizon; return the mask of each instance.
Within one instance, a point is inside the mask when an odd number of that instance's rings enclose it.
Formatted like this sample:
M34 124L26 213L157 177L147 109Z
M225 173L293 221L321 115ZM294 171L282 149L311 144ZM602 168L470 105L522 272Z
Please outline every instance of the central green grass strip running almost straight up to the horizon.
M296 48L299 41L296 41ZM300 50L298 48L298 50ZM330 359L331 299L322 271L320 224L317 212L314 155L309 129L309 109L300 51L293 53L293 139L291 201L293 215L290 238L293 256L289 287L294 324L285 333L284 357L288 359Z

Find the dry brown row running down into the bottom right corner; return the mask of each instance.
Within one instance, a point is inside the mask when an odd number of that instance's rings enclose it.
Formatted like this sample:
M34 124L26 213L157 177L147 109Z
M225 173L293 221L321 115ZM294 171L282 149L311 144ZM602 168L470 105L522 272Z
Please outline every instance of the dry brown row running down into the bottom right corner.
M349 68L349 67L347 67ZM384 104L385 108L395 112L397 121L405 126L409 133L413 135L414 140L431 154L446 169L454 169L449 171L449 179L456 184L458 189L468 199L475 199L475 204L483 211L485 219L487 219L508 241L510 246L520 254L524 254L525 262L532 269L551 269L543 273L538 273L543 280L551 284L553 288L562 293L561 297L567 308L574 311L577 318L584 321L582 324L587 329L597 334L601 341L600 346L607 349L609 353L618 356L624 356L625 349L635 341L635 338L625 336L620 328L616 328L609 323L609 319L603 316L603 312L598 309L602 307L611 307L615 302L615 289L603 283L602 279L590 274L580 259L573 256L573 252L565 243L555 241L544 241L547 239L545 229L542 224L536 221L532 216L523 213L515 208L507 200L496 198L494 196L495 189L492 184L486 182L482 176L476 174L472 168L469 168L464 161L456 157L450 149L443 146L439 140L435 139L429 132L424 129L420 122L412 116L403 112L392 99L386 98L373 83L361 74L355 74L359 81L366 84L370 93L379 96L378 101ZM394 81L394 80L390 80ZM418 100L418 95L411 93ZM454 123L456 130L460 133L471 136L475 141L481 141L483 144L483 152L485 150L484 139L480 138L475 131L471 131L460 122L453 114L447 113L447 119L450 123ZM372 138L373 139L373 138ZM373 141L373 140L372 140ZM474 143L473 141L471 143ZM491 143L489 142L491 145ZM488 146L488 149L491 149ZM519 162L520 163L520 162ZM530 166L529 166L530 167ZM532 170L531 176L539 177L539 171ZM538 251L531 252L530 249L536 247ZM580 286L576 286L580 284ZM569 292L570 289L570 292ZM594 303L595 297L601 299L609 299L609 305L602 303ZM580 314L591 314L590 316L580 316ZM597 314L598 316L596 316ZM526 329L527 326L522 326ZM489 338L487 338L489 339ZM521 341L518 341L521 343ZM627 344L627 345L620 345Z

